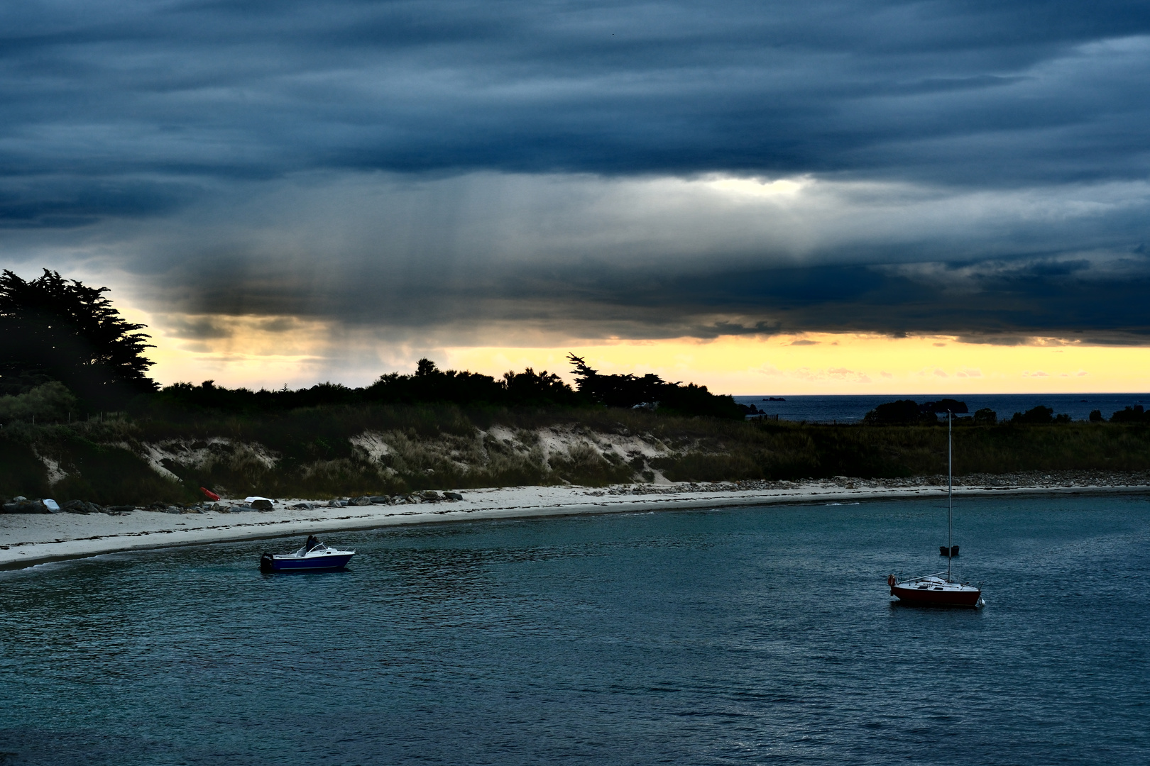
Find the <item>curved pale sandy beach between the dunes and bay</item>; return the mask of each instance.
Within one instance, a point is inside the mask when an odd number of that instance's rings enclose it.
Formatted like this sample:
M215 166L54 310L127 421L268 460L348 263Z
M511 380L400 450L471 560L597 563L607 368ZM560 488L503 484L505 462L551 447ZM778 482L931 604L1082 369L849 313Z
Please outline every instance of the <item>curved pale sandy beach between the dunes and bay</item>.
M914 500L944 496L943 485L858 487L839 483L781 482L770 489L716 490L697 486L628 487L505 487L460 490L462 501L419 505L361 505L347 508L289 509L307 501L276 503L273 511L238 513L164 513L136 510L123 516L105 513L0 514L0 571L39 564L89 558L130 550L239 542L310 533L351 532L415 524L469 520L526 519L552 516L631 513L650 510L692 510L739 505L858 502L862 500ZM996 495L1150 494L1150 485L1006 485L956 486L959 497Z

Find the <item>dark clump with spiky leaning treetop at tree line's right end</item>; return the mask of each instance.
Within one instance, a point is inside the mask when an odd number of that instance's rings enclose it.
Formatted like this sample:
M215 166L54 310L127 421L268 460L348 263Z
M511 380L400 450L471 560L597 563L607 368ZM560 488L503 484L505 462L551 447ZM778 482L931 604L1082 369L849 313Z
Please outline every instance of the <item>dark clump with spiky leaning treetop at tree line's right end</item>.
M702 415L715 418L743 419L743 408L729 395L712 394L706 386L667 382L657 374L642 378L634 374L599 374L586 362L568 354L575 367L578 393L607 407L649 407L677 415Z

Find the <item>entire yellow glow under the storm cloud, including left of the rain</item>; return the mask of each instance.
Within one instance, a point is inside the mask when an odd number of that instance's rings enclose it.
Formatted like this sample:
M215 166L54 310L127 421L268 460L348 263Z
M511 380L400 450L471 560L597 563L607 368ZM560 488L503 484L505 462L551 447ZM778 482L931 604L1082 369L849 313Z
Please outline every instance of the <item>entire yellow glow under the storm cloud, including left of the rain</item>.
M130 314L135 320L148 318ZM419 357L429 356L444 369L498 377L530 366L572 380L566 357L573 351L601 372L653 372L666 380L692 381L729 394L1150 390L1150 348L1084 346L1055 339L995 346L948 336L811 333L708 341L575 341L526 348L414 348L334 335L322 323L294 318L227 322L230 324L223 327L222 336L200 340L167 335L153 325L153 377L163 384L214 379L218 385L254 388L296 388L322 380L362 386L385 372L411 372Z

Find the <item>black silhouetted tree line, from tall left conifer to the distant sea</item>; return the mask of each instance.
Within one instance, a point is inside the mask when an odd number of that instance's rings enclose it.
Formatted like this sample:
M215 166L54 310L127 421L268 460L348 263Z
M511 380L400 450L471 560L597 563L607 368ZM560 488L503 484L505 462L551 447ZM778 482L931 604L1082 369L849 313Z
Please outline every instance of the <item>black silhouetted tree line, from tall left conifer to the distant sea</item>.
M59 272L31 280L0 276L0 417L55 410L217 410L261 412L332 404L452 403L492 407L622 407L687 416L742 419L746 408L706 386L668 382L656 374L603 374L569 355L575 386L558 374L508 371L499 379L439 370L419 361L411 374L391 372L370 386L323 382L290 390L227 388L206 380L160 388L148 374L152 348L144 325L123 319L105 295ZM69 409L70 411L70 409Z

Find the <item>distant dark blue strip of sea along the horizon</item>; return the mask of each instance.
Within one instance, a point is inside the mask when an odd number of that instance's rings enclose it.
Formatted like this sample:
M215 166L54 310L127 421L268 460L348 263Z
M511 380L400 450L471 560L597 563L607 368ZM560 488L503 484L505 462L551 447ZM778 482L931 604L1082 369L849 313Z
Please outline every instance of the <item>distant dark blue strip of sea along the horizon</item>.
M888 396L775 396L756 394L753 396L736 396L739 404L754 404L768 415L777 415L782 420L806 420L807 423L857 423L862 416L884 402L899 399L912 399L918 403L933 402L940 399L957 399L966 402L971 412L990 408L998 419L1009 419L1015 412L1026 412L1038 407L1049 407L1056 413L1065 412L1074 420L1086 420L1091 410L1099 410L1110 419L1116 411L1126 407L1142 404L1150 409L1150 394L948 394L914 395L899 394Z

